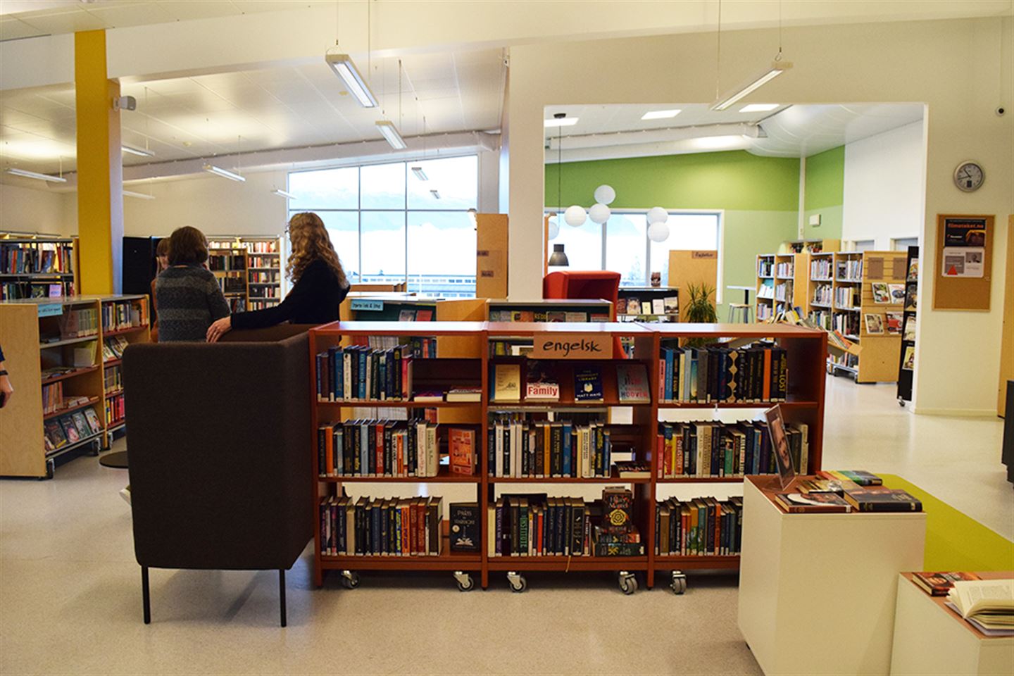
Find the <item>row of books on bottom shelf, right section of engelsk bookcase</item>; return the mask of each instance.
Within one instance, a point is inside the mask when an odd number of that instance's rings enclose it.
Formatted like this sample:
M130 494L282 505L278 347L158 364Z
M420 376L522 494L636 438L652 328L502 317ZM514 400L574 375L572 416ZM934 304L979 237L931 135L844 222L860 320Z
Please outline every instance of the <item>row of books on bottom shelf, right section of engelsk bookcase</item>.
M675 498L655 506L655 553L734 556L742 550L743 499Z

